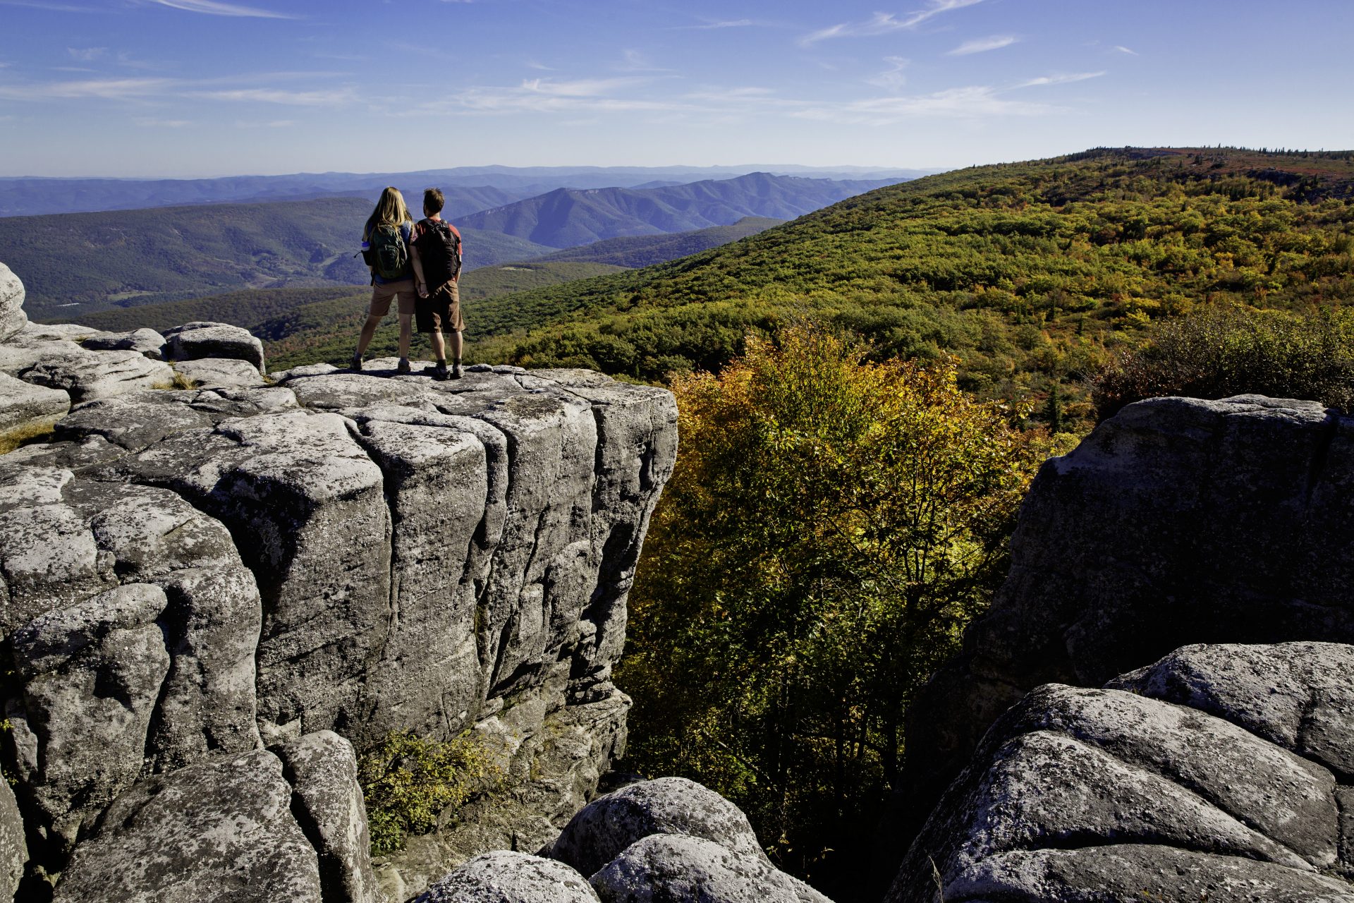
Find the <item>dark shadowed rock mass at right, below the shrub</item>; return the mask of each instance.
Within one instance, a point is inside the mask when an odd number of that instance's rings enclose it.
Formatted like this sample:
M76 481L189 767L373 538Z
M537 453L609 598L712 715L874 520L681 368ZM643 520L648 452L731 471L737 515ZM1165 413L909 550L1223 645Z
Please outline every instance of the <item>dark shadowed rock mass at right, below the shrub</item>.
M1011 569L909 715L906 842L987 727L1185 643L1354 642L1354 420L1304 401L1155 398L1044 464Z

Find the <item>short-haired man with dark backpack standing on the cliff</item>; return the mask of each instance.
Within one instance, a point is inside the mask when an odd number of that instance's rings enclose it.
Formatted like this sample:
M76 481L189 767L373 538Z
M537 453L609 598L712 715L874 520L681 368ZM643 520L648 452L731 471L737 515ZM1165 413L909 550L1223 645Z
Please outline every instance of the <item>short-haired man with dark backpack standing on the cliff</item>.
M418 283L414 320L418 332L431 333L432 351L437 356L433 379L460 379L460 333L466 321L460 315L460 232L441 218L444 198L440 190L424 192L424 219L414 225L414 260L422 263L427 282ZM451 330L451 371L447 370L447 348L441 330Z

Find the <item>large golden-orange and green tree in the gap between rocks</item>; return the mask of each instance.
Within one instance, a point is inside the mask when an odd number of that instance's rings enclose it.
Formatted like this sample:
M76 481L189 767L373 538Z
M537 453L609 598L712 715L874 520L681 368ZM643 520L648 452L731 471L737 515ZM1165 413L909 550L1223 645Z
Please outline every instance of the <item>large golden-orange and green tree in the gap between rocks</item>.
M909 700L1003 575L1039 449L953 364L865 363L812 328L673 390L681 451L617 678L632 765L724 793L822 879L829 846L873 829Z

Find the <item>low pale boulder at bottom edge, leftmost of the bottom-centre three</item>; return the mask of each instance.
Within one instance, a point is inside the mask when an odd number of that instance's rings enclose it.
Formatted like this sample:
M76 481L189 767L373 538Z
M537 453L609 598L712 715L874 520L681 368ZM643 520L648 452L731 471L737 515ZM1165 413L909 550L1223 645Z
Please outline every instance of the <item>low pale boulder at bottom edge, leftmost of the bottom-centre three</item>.
M416 903L597 903L597 894L563 862L498 850L474 857Z

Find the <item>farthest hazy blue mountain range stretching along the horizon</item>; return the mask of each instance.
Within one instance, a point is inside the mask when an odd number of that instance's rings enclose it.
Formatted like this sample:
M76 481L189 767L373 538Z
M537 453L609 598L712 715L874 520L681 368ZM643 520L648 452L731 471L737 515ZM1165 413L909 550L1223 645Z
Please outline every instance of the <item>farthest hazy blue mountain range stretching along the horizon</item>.
M555 188L658 187L727 179L754 171L829 179L913 179L919 169L811 169L804 167L459 167L420 172L294 173L223 179L0 177L0 217L134 210L198 203L297 200L334 195L371 198L395 185L410 198L431 185L448 194L454 215L497 207Z

